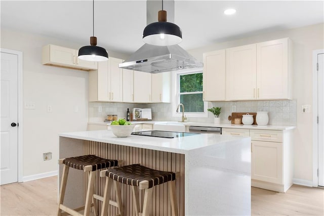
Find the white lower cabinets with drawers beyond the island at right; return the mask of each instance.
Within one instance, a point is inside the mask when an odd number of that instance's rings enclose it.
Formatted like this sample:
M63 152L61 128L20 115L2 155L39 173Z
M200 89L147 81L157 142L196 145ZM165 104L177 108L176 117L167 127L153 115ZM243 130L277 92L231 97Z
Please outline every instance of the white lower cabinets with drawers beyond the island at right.
M222 128L222 134L251 136L253 187L285 193L292 186L292 130Z

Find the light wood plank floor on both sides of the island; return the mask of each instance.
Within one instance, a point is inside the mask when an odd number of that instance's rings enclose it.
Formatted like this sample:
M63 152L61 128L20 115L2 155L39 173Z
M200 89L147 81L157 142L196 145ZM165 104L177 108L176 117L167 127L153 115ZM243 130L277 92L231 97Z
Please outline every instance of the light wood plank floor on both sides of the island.
M55 215L57 176L1 186L0 215ZM252 215L324 215L324 190L293 185L287 193L252 188Z

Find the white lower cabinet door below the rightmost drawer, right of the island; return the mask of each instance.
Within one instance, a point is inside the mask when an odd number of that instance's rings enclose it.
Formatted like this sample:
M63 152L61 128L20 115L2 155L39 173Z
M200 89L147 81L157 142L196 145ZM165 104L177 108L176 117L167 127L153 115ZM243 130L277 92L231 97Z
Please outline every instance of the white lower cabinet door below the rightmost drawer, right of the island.
M282 142L251 142L251 178L282 184Z

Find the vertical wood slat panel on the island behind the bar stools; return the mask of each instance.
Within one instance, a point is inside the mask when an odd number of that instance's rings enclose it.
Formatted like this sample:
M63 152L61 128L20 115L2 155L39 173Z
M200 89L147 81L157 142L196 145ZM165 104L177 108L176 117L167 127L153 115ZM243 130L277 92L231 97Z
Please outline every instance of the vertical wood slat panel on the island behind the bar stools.
M140 163L143 166L162 170L178 172L176 180L177 201L179 215L184 215L184 155L136 147L120 146L111 143L84 140L84 154L95 154L106 159L123 160L123 165ZM87 178L85 178L87 181ZM105 178L97 175L96 192L103 196ZM151 215L171 215L171 204L169 189L167 184L154 187L152 193ZM142 193L143 192L143 193ZM132 190L130 186L121 184L121 196L124 204L125 215L135 215L132 200ZM112 191L111 197L115 200L115 192ZM140 191L140 204L144 199L144 191ZM99 201L99 210L102 202ZM117 208L111 206L109 215L117 214Z

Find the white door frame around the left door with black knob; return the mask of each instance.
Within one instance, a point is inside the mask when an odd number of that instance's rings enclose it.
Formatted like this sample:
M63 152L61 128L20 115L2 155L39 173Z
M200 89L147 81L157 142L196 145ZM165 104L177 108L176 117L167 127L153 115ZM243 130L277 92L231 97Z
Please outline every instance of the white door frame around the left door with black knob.
M0 52L18 57L18 182L23 182L23 53L0 48Z

